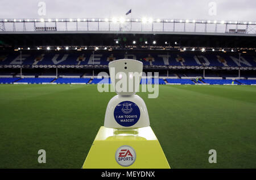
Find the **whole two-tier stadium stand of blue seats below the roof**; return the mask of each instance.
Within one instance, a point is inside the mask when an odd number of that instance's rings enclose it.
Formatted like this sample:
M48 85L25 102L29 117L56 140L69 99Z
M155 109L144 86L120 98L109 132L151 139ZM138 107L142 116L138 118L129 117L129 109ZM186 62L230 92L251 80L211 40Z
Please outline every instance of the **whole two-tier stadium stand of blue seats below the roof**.
M0 53L1 55L1 53ZM222 52L48 52L27 51L20 55L5 54L0 61L0 83L111 83L110 78L97 78L99 72L108 73L108 64L119 58L135 58L143 62L148 72L159 72L159 85L254 85L256 61L254 54ZM238 77L238 67L243 72ZM56 68L59 69L56 71ZM242 69L243 68L243 69ZM203 76L203 69L205 74ZM168 72L167 72L168 71ZM102 81L103 80L103 81ZM155 79L142 78L141 84L157 83Z

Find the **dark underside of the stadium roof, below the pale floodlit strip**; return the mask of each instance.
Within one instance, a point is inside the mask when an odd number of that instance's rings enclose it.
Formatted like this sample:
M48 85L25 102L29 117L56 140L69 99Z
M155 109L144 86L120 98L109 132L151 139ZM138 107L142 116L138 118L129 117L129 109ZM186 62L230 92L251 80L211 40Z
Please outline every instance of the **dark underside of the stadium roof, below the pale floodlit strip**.
M116 43L118 41L118 44ZM135 44L133 44L135 41ZM155 44L153 43L155 41ZM146 44L147 42L147 44ZM209 47L209 48L255 48L256 37L223 36L203 34L0 34L0 47L38 46L112 46L124 48L175 48L175 47Z

